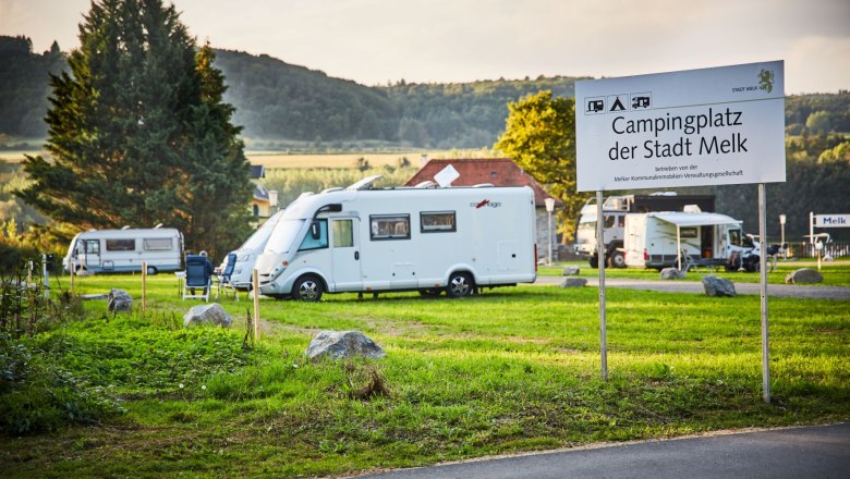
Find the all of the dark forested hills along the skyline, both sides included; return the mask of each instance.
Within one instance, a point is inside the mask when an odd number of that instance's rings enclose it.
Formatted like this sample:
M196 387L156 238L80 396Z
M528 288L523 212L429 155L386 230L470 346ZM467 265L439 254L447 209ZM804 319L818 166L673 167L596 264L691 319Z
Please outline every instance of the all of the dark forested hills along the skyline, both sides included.
M463 84L364 86L268 56L216 50L250 148L306 150L368 146L434 149L491 146L505 128L507 105L542 89L572 97L575 77ZM0 147L44 138L48 72L66 70L56 44L41 54L26 37L0 36ZM850 91L790 96L791 135L850 133Z

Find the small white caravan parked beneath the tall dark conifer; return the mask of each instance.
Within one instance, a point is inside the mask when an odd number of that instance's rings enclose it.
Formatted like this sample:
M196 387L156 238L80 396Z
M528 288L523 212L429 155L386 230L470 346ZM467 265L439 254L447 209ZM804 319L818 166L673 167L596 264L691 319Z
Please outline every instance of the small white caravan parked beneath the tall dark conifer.
M183 235L173 228L92 230L71 241L62 259L65 271L71 262L77 271L113 273L142 271L147 273L180 270L183 257Z

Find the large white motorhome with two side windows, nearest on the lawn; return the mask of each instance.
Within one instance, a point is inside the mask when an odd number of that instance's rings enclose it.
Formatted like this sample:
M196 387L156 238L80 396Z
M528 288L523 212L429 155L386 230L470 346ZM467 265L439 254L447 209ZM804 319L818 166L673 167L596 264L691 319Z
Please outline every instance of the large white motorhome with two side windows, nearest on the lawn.
M302 195L287 207L257 260L260 293L461 297L536 279L531 188L371 189L375 180Z

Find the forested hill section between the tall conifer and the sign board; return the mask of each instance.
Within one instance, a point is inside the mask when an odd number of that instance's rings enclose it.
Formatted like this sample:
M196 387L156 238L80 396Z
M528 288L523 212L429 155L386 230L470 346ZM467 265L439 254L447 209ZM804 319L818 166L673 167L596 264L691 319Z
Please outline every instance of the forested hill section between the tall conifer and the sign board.
M268 56L217 54L216 66L230 86L226 99L236 107L234 122L248 138L478 148L496 142L508 102L541 89L573 96L576 79L366 87Z

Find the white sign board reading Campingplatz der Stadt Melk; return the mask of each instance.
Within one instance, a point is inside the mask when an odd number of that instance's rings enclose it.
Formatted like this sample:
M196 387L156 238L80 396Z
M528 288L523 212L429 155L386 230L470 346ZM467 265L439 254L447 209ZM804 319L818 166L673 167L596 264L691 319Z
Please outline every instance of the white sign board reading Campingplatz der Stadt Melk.
M785 181L782 61L575 83L580 192Z

